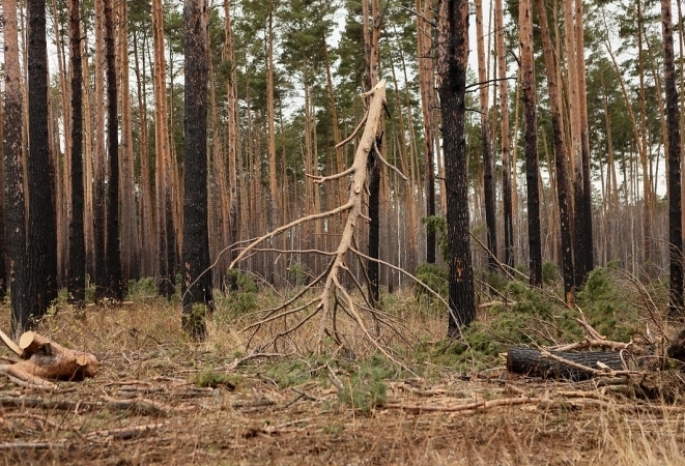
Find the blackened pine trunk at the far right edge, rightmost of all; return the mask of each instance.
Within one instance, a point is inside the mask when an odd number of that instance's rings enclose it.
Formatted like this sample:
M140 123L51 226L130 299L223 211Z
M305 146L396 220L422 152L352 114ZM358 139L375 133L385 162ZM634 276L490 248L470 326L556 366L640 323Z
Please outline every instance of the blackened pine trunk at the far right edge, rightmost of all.
M664 40L664 83L668 118L668 241L670 243L670 309L672 316L682 317L683 310L683 230L680 191L680 113L678 91L675 87L673 57L673 18L670 0L661 1L661 24Z

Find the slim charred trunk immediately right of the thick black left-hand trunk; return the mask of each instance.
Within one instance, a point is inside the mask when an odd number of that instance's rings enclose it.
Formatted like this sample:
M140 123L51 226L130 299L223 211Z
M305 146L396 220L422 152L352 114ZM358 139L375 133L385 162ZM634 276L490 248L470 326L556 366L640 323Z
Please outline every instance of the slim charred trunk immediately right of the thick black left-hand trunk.
M69 8L71 56L71 217L69 218L69 298L83 305L86 298L86 243L84 238L83 192L83 69L81 64L80 1Z

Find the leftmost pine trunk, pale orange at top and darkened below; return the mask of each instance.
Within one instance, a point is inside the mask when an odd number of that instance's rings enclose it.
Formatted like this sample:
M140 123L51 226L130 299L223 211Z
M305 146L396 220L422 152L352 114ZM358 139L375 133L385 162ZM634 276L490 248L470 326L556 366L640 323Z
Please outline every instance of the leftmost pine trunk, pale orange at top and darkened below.
M9 286L12 301L12 336L18 338L30 325L26 275L26 199L24 180L23 99L19 40L17 36L17 2L3 0L5 41L5 118L4 153L7 197L7 252L10 259ZM11 233L11 234L10 234Z

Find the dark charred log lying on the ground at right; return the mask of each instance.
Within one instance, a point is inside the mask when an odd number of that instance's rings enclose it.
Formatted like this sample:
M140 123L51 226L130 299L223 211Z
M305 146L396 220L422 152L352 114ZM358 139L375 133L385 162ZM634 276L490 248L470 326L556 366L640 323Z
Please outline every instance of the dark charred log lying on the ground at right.
M542 351L535 348L513 346L507 352L507 371L529 377L578 381L594 377L596 373L592 370L601 370L602 364L616 371L625 369L623 358L616 351L549 351L549 353L575 366L545 357ZM578 365L592 370L583 370Z

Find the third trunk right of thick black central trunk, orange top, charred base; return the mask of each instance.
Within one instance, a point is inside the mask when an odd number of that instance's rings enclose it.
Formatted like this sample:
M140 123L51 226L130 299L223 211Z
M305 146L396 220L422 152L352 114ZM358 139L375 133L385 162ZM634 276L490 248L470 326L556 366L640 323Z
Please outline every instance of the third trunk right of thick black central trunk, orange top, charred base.
M540 239L540 190L538 185L538 136L535 67L533 59L533 2L519 3L521 33L521 88L523 91L524 137L526 143L526 187L528 194L528 244L530 284L542 287L542 243Z

